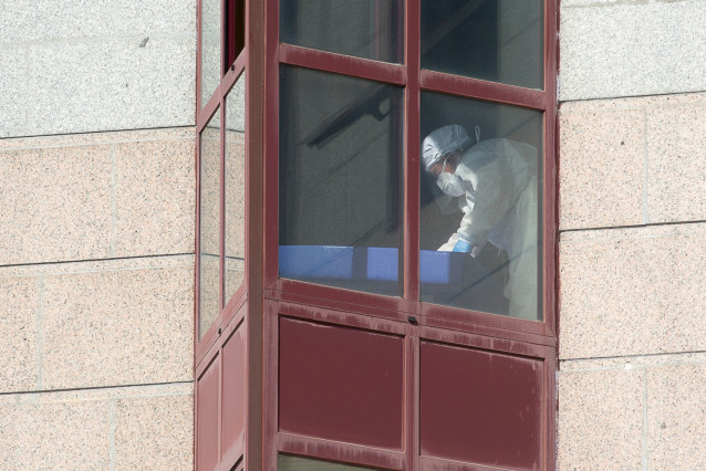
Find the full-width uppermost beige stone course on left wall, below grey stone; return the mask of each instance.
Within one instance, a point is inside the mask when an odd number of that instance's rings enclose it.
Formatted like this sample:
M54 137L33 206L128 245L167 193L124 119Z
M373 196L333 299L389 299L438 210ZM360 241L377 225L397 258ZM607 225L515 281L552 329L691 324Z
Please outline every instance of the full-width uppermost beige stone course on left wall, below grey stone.
M194 251L191 128L0 144L0 265Z

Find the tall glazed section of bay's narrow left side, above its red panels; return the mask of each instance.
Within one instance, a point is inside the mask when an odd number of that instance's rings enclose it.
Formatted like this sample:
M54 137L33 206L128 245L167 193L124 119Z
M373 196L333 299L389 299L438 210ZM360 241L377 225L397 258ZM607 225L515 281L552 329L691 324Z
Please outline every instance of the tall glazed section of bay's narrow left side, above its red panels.
M197 341L235 297L246 270L245 2L203 0L199 14Z

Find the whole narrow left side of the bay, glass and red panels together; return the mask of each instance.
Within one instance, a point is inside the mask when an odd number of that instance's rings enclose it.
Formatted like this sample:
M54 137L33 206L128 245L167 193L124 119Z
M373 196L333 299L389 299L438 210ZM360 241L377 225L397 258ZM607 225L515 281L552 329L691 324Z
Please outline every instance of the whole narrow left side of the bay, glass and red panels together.
M198 2L197 469L225 462L227 469L245 469L249 345L245 14L245 0Z

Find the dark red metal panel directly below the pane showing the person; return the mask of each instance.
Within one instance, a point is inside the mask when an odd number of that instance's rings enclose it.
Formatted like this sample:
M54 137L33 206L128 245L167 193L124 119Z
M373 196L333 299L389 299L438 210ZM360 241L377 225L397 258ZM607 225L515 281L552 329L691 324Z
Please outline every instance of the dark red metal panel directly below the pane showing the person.
M510 469L541 467L541 358L426 341L419 349L423 456Z

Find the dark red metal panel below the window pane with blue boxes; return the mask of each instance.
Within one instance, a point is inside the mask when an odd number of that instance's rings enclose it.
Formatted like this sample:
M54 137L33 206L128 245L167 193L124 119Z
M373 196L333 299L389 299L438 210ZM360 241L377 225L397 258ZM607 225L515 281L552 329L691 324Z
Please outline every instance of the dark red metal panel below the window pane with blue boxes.
M402 449L404 338L282 317L279 430Z

